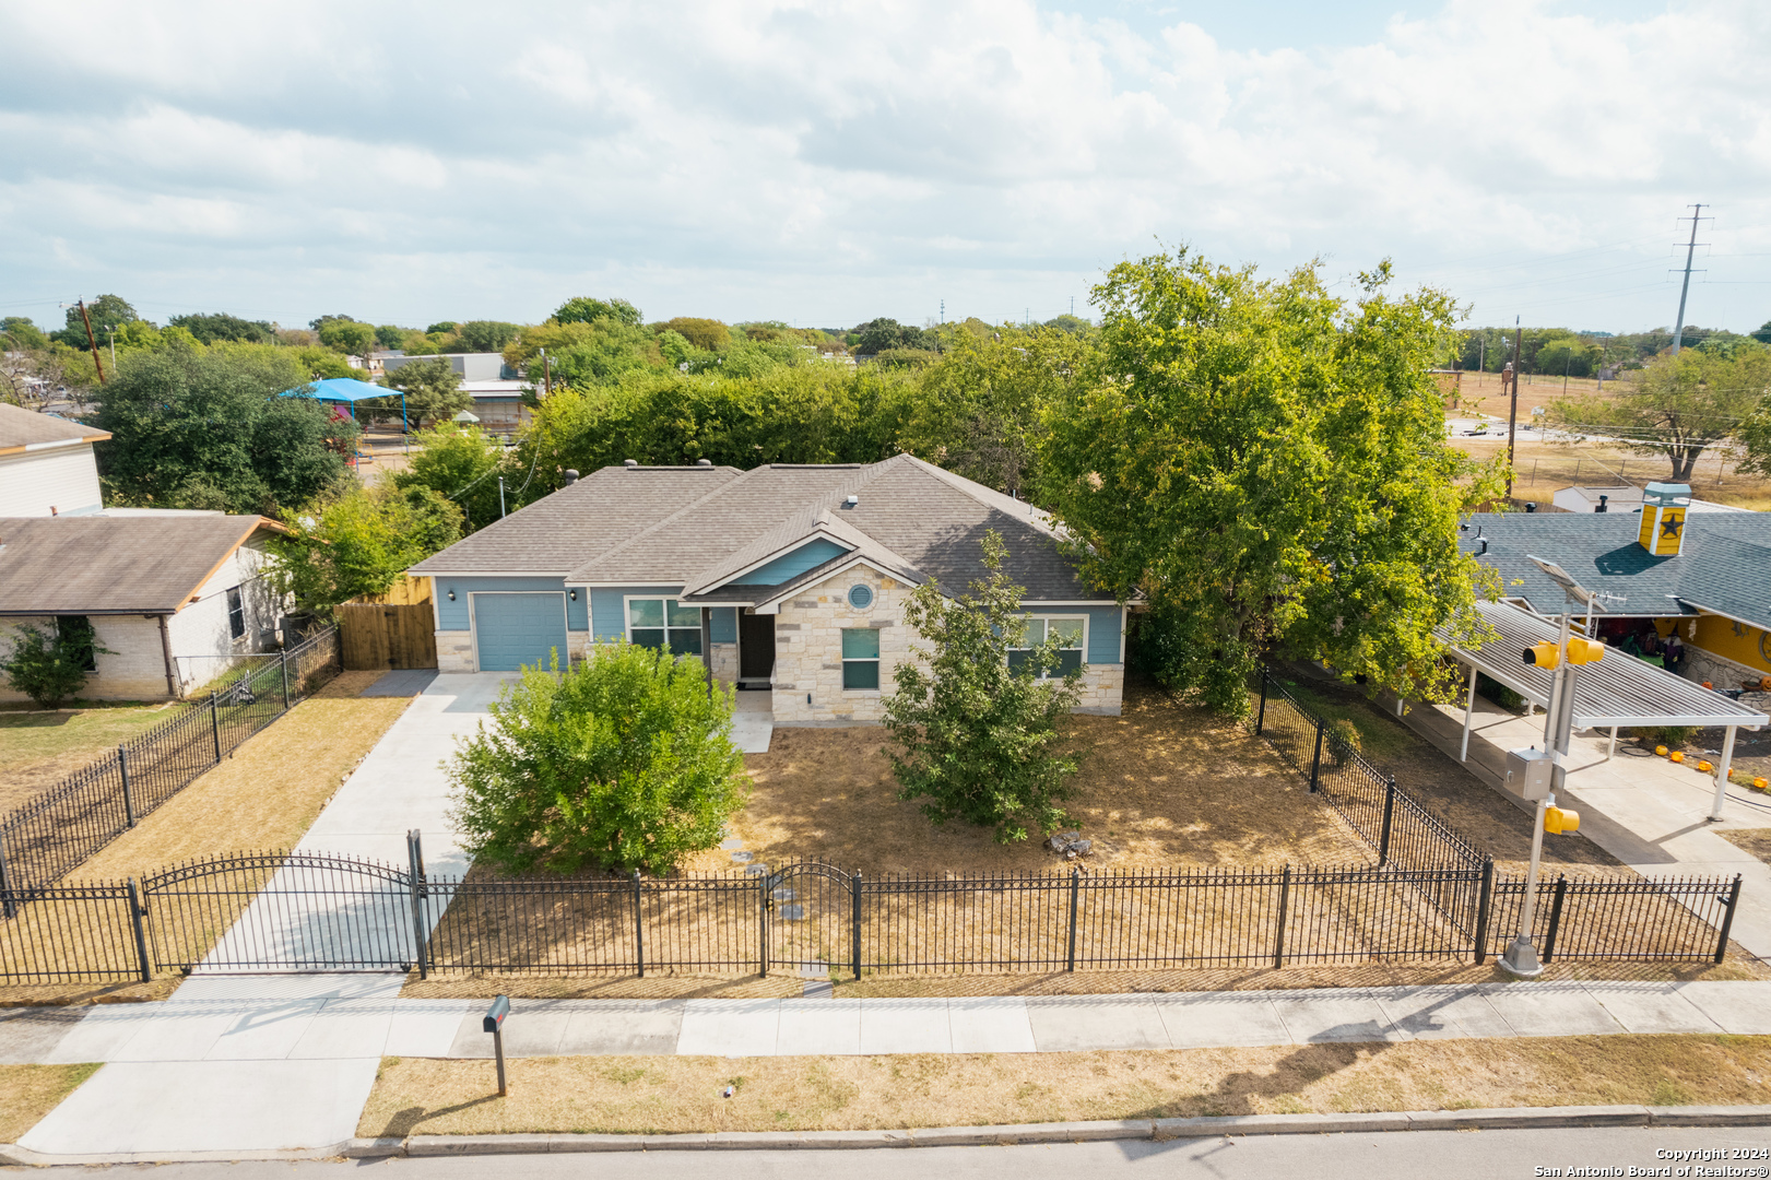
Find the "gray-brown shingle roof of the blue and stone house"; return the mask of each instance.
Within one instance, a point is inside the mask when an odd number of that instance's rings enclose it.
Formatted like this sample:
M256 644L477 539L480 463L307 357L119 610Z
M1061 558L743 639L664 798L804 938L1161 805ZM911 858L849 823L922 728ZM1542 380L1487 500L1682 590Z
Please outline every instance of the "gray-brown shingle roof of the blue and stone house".
M852 508L850 494L859 500ZM822 532L912 581L933 578L960 592L983 576L981 542L992 528L1008 546L1004 572L1029 599L1110 601L1082 585L1043 512L910 455L742 473L604 468L413 572L558 571L577 585L682 585L700 588L705 601L760 601L767 586L721 583Z

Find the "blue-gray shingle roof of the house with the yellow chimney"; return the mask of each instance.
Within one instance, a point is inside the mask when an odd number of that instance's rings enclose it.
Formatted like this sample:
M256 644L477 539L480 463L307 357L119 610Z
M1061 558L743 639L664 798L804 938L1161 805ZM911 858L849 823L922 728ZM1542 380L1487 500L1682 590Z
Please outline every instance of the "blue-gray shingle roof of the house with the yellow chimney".
M1771 629L1771 514L1693 512L1679 556L1654 556L1636 544L1636 512L1477 514L1466 526L1463 551L1500 574L1505 597L1537 611L1560 613L1562 590L1527 555L1562 565L1589 590L1624 595L1608 604L1612 615L1667 617L1704 606Z

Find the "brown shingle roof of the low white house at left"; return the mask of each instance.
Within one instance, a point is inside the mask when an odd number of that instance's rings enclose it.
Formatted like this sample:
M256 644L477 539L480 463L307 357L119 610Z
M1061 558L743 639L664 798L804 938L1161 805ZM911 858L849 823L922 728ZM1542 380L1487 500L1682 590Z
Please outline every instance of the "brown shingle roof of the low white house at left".
M0 519L0 615L170 615L260 528L257 516Z

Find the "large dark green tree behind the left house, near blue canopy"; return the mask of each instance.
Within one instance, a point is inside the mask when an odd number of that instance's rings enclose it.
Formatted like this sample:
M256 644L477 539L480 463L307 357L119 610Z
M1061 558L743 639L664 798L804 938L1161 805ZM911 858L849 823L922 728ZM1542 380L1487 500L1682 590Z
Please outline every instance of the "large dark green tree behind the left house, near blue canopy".
M120 360L92 425L113 501L275 516L345 478L356 425L306 397L292 349L174 345Z

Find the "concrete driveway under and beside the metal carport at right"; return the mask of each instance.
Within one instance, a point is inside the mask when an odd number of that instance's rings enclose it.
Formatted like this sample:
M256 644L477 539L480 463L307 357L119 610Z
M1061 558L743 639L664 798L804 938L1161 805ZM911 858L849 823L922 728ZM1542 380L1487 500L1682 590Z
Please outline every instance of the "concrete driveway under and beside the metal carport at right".
M1404 721L1442 751L1458 757L1463 710L1454 705L1410 703ZM1760 959L1771 959L1771 865L1716 835L1720 827L1771 827L1771 796L1730 785L1721 822L1709 819L1716 780L1667 758L1624 753L1605 758L1610 732L1576 734L1566 804L1580 811L1580 831L1643 877L1743 879L1730 935ZM1475 698L1470 760L1465 769L1500 788L1509 749L1544 746L1544 716L1520 718ZM1406 785L1406 783L1404 783ZM1521 804L1523 806L1523 804ZM1548 836L1553 840L1553 836Z

